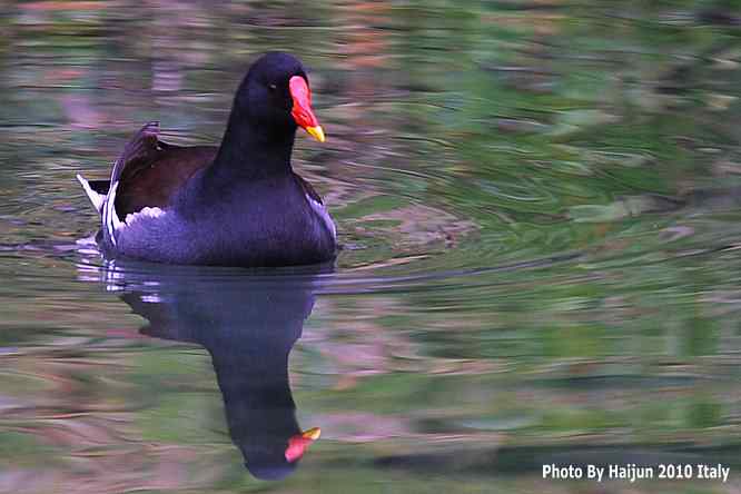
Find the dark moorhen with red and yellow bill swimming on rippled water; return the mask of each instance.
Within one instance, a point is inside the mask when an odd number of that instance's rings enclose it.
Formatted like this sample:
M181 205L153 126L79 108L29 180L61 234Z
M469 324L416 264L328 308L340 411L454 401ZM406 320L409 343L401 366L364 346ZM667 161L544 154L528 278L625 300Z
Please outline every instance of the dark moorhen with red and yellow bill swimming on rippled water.
M221 145L181 147L146 125L108 181L78 176L101 215L109 256L169 264L286 266L332 259L335 226L290 165L297 127L324 141L294 57L257 60L239 86Z

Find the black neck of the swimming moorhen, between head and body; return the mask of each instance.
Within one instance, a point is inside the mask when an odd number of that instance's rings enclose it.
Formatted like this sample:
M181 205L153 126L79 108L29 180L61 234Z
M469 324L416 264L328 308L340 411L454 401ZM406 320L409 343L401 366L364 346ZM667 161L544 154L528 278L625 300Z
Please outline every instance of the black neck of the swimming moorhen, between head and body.
M233 112L207 176L230 182L289 175L295 136L295 128L259 128Z

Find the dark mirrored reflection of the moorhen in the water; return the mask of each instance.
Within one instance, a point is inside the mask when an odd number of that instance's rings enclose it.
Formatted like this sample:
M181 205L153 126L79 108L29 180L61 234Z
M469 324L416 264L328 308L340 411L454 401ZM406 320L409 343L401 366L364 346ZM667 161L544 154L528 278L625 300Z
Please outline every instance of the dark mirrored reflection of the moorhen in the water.
M208 350L229 434L247 470L257 478L279 480L295 471L319 436L318 427L302 432L296 421L288 354L314 307L317 280L330 271L332 266L316 266L255 276L109 264L103 276L108 289L120 290L124 302L148 320L142 334Z

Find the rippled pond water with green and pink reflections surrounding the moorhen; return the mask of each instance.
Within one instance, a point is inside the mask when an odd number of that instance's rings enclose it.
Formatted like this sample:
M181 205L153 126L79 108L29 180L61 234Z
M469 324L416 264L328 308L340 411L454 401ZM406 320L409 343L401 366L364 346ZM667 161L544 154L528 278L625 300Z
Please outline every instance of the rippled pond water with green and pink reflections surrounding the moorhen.
M738 2L0 6L1 493L741 490ZM75 175L268 50L336 264L105 261Z

